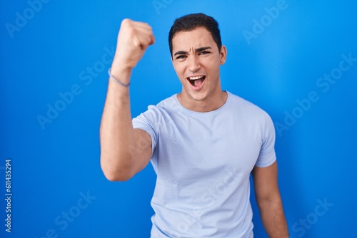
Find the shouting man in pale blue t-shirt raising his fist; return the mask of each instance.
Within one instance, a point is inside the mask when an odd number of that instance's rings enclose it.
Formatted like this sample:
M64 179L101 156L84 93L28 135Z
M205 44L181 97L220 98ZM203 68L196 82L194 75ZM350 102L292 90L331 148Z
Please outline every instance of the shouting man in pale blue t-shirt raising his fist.
M221 89L226 47L216 20L176 19L169 33L181 93L131 120L131 71L155 41L148 24L122 21L101 121L101 167L129 180L151 161L157 175L151 237L253 237L249 176L269 237L288 237L271 118Z

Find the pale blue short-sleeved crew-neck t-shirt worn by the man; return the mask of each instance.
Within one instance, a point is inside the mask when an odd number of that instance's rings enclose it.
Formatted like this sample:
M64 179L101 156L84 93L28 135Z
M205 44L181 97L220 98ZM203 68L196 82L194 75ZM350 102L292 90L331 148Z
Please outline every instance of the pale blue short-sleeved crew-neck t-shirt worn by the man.
M276 160L271 118L229 92L208 113L177 95L133 119L152 139L151 237L253 237L249 175Z

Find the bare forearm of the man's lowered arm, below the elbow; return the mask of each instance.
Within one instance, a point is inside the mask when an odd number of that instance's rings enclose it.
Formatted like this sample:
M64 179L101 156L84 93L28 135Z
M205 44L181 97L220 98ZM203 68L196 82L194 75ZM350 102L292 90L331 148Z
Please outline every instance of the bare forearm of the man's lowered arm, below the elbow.
M288 238L288 226L280 196L275 200L258 202L263 226L270 238Z

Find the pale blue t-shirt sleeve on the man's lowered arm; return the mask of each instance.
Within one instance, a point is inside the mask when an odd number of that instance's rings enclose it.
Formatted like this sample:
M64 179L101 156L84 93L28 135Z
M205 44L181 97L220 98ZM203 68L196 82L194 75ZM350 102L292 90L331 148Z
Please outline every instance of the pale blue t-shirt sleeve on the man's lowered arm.
M265 113L264 118L261 151L259 152L258 160L256 161L257 167L268 167L276 161L274 149L275 129L273 121L267 113Z

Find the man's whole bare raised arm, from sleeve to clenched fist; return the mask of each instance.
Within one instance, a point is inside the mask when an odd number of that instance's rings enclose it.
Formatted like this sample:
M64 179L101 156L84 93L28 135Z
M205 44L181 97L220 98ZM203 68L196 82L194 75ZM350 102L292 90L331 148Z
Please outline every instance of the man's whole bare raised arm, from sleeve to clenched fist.
M109 180L128 180L143 169L151 155L151 138L131 123L129 84L131 71L155 42L149 24L124 19L116 44L106 103L101 119L101 168ZM124 83L124 85L123 85ZM140 147L136 145L140 142ZM144 143L143 143L144 142Z

